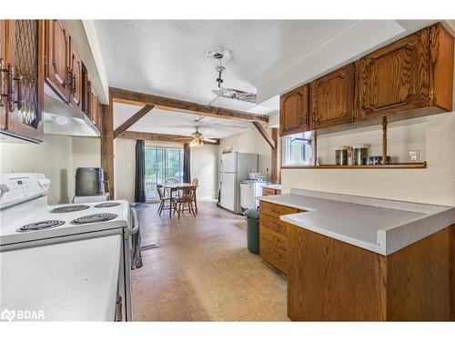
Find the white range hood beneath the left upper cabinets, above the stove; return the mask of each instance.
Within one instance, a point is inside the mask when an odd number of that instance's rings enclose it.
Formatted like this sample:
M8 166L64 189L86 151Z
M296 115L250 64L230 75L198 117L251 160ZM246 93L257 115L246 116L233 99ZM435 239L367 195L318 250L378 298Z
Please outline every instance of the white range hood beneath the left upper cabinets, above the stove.
M45 85L45 134L99 137L96 125L80 109L67 105Z

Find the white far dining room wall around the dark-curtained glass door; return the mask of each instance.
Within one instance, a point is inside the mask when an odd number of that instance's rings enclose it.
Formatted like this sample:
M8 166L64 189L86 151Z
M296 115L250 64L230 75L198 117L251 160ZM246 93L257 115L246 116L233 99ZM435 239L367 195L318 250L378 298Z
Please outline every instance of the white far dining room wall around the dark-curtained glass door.
M114 140L114 175L115 196L134 202L136 172L136 140L116 138ZM180 146L163 143L147 143L147 145ZM207 200L217 197L218 146L204 145L191 149L191 178L199 178L197 199Z

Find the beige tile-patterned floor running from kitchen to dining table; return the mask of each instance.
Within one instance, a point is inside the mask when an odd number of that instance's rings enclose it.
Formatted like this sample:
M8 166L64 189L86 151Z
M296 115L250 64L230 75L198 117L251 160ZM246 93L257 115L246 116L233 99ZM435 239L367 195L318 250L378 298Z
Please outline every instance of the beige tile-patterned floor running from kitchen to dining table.
M248 252L242 216L200 203L180 221L138 210L143 263L133 271L136 321L288 321L286 279Z

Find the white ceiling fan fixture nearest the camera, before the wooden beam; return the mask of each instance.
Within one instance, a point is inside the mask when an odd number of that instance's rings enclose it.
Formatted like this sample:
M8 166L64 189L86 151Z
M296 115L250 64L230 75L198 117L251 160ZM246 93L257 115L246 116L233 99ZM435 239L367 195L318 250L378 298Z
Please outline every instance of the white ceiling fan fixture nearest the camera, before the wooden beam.
M256 104L256 94L248 93L247 91L231 89L228 87L222 87L223 83L222 74L226 70L226 67L223 66L230 59L230 52L223 47L212 47L209 48L206 52L206 58L212 64L215 65L215 71L217 71L217 85L218 88L212 90L212 92L219 96L225 98L237 99L238 101L250 102Z

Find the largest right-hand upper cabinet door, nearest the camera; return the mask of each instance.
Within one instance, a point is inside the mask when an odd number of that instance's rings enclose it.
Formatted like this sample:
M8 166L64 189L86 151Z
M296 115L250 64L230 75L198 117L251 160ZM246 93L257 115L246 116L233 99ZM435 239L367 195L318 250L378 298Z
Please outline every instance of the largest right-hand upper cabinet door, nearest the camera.
M428 40L426 28L356 63L358 119L429 105Z

